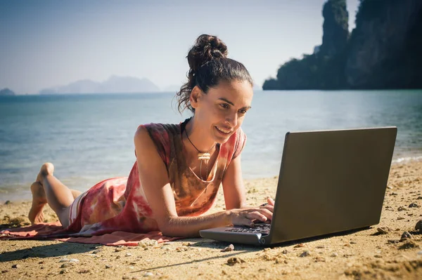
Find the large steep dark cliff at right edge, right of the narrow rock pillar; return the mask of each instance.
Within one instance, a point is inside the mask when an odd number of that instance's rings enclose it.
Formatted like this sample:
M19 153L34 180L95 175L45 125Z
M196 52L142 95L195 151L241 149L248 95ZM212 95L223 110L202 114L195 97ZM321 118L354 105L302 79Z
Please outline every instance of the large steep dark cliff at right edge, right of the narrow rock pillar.
M361 1L348 43L350 88L421 88L422 1Z

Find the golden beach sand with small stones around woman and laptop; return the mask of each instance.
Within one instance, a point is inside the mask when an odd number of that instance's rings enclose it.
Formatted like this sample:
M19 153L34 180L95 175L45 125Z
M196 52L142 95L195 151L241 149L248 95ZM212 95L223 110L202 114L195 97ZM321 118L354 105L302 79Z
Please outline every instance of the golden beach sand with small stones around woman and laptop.
M274 197L276 178L245 185L257 205ZM422 234L414 229L421 206L422 161L395 164L381 222L370 229L274 248L234 244L226 252L229 244L209 239L146 248L1 240L0 279L422 279ZM214 211L223 207L219 193ZM1 229L29 224L29 209L30 201L1 205ZM44 213L47 222L57 220L50 208ZM403 232L412 238L399 241Z

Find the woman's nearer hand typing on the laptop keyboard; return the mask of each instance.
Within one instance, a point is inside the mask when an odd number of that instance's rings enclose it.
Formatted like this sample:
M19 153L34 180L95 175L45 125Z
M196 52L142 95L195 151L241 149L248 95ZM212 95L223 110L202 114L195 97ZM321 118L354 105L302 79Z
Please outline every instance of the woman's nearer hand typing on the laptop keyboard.
M267 222L272 220L274 211L274 199L268 199L268 204L242 209L231 209L229 211L230 221L233 225L246 225L254 227L254 221Z

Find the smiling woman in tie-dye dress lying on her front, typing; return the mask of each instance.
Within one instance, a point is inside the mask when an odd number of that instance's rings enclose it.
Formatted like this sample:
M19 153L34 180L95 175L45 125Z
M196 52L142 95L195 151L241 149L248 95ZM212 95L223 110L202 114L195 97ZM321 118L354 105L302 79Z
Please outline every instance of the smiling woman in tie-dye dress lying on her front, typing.
M243 64L226 57L216 36L201 35L188 53L188 82L177 93L181 124L145 124L134 136L136 163L129 177L99 182L87 192L69 189L41 166L31 185L32 224L44 220L49 204L63 227L84 236L108 232L150 232L198 236L200 229L253 225L271 220L274 201L245 206L241 129L252 102L252 79ZM201 215L224 189L226 211Z

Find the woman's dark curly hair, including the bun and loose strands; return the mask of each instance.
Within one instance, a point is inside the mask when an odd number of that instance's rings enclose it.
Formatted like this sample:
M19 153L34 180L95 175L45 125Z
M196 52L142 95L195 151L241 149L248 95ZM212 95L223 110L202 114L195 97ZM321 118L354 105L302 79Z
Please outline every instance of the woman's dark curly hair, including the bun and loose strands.
M227 58L227 46L217 36L202 34L186 56L189 64L188 82L181 86L177 95L179 112L189 109L195 112L189 98L191 91L198 86L204 93L218 86L220 81L248 81L253 86L252 78L245 65Z

